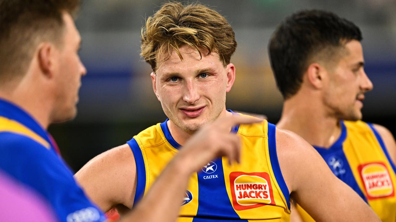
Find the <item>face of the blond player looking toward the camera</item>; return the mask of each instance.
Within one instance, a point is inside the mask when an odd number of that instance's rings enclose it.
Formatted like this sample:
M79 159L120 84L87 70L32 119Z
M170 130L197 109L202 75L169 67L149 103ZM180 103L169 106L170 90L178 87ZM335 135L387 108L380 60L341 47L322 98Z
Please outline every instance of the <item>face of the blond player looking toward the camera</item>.
M226 92L235 79L235 67L226 67L217 53L202 59L198 51L180 47L183 61L175 51L151 73L154 92L171 124L193 133L207 122L225 115ZM161 61L161 55L158 56Z

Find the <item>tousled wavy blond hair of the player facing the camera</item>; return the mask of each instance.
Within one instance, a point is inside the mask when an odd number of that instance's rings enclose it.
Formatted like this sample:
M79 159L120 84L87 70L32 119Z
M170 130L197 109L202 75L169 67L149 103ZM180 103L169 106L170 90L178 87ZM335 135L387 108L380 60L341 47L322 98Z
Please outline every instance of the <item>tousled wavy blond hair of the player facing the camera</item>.
M196 49L201 58L202 52L206 55L215 52L227 66L237 45L234 31L225 17L202 4L183 5L180 2L168 2L148 17L141 29L141 43L140 55L153 71L173 50L183 60L179 51L183 45ZM159 55L163 59L157 61Z

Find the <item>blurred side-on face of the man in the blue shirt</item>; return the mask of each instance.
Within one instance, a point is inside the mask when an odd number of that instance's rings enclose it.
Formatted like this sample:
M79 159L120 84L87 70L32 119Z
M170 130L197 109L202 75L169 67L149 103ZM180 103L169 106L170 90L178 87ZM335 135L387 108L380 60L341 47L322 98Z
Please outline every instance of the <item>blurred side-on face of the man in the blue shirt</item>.
M81 86L81 77L86 74L86 69L80 57L81 38L72 17L63 15L65 30L63 32L63 45L59 47L59 69L55 76L57 85L55 111L52 122L62 122L74 118L77 114L78 89Z

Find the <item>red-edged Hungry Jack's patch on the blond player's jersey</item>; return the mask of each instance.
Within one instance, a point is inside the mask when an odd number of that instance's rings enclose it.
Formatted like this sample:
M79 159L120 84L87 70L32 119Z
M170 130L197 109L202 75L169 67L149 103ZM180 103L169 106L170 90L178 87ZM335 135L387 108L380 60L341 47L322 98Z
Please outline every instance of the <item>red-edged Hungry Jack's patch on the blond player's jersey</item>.
M275 205L268 173L230 173L232 205L237 211Z

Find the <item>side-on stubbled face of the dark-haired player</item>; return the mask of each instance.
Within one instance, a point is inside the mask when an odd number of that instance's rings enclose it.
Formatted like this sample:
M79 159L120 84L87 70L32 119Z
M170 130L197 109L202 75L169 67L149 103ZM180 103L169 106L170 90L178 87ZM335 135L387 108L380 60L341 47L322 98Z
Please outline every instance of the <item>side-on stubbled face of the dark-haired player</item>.
M345 44L346 53L329 71L329 84L325 88L324 102L331 115L344 120L362 119L364 93L373 84L364 72L363 49L359 41Z

